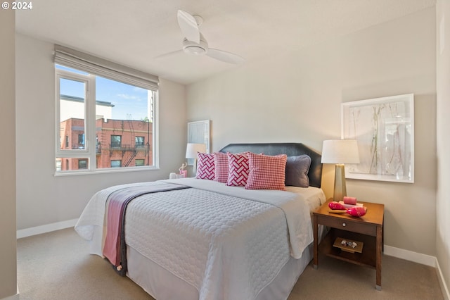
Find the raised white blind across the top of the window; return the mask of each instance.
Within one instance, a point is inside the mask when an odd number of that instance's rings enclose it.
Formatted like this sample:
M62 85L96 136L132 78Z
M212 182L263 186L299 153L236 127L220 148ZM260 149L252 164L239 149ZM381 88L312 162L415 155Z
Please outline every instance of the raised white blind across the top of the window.
M107 61L103 58L98 58L57 44L55 45L55 63L136 87L143 87L153 91L158 90L159 77L156 75L119 65L112 61Z

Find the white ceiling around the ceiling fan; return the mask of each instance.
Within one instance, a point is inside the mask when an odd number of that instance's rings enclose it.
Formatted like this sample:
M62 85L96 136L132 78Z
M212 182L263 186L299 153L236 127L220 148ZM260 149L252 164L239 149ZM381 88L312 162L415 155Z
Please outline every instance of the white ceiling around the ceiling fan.
M39 0L16 11L17 32L189 84L240 65L182 52L182 9L203 17L211 48L245 63L435 6L436 0Z

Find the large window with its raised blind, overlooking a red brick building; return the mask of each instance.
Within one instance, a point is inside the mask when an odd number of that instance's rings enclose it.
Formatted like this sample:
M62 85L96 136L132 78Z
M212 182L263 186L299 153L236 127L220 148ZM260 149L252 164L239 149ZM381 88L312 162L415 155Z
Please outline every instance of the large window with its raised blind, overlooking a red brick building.
M55 70L56 173L158 167L158 77L58 45Z

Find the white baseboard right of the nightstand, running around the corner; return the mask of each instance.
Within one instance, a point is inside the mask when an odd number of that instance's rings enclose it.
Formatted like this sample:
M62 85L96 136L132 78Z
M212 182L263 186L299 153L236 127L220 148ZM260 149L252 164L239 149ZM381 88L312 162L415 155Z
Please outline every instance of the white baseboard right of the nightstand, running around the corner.
M392 246L385 245L384 254L388 256L394 256L401 259L406 259L406 261L413 261L414 263L421 263L423 265L429 265L432 268L436 268L437 280L439 280L439 286L441 287L442 295L444 299L450 299L449 288L447 287L442 270L439 267L439 261L435 256L430 256L426 254L420 254L417 252L400 249Z

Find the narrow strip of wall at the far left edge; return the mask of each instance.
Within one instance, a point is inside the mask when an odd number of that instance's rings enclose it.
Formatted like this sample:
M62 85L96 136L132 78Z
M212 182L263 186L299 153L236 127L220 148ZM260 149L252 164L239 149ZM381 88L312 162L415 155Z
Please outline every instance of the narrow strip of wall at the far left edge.
M0 11L0 299L18 299L15 243L14 11Z

